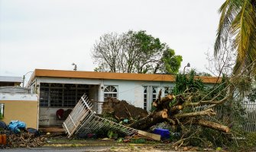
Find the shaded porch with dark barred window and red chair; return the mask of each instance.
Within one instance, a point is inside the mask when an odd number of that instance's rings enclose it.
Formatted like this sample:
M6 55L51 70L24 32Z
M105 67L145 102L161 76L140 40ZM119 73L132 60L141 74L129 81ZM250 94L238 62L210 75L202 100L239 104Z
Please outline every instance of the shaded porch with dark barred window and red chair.
M99 85L40 83L39 119L40 128L61 126L83 94L89 100L99 100ZM100 106L94 102L93 109Z

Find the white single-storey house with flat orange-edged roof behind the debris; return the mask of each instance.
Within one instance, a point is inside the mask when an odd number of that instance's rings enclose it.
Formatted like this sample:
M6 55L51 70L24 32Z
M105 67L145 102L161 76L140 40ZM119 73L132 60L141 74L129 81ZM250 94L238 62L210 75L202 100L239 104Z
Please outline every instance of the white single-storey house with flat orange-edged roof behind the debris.
M200 77L206 84L214 84L217 78ZM62 71L35 69L28 82L31 93L39 95L39 125L61 125L58 109L72 109L83 93L89 100L104 101L107 97L126 100L134 106L150 110L151 103L174 86L170 74L128 74L94 71ZM94 102L101 112L101 103Z

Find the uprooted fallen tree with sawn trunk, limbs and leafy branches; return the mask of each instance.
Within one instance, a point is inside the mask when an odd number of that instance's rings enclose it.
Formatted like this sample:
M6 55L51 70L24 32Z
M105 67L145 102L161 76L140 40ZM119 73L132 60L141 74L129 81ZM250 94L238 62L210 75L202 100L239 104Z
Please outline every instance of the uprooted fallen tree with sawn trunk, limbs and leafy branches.
M183 75L183 79L184 77L186 78L186 75ZM157 100L152 103L154 111L147 117L130 124L129 127L145 130L157 123L168 122L170 125L200 125L228 133L230 128L227 125L209 118L216 116L213 109L215 106L222 105L230 98L232 94L229 90L230 85L223 81L218 87L206 91L203 82L195 80L193 75L187 78L187 81L191 82L190 86L177 86L177 91L180 92L176 96L170 93L161 97L162 90L160 90Z

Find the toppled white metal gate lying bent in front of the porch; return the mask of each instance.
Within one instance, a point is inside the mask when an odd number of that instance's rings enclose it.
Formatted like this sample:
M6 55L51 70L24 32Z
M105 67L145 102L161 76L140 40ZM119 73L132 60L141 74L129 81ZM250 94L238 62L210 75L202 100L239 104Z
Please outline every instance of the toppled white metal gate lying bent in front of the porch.
M70 115L63 122L63 128L68 134L68 138L78 133L84 135L100 130L115 130L125 135L134 135L138 130L129 128L125 125L112 122L108 119L96 116L96 112L92 110L92 103L84 94L83 97L76 103Z

